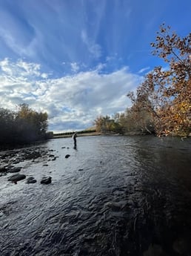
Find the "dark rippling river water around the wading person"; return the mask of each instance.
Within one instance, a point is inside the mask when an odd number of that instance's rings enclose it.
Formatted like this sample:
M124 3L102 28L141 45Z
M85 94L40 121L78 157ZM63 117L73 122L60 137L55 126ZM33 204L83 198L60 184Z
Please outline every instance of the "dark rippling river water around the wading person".
M31 149L42 157L15 166L37 183L0 177L1 256L191 255L190 139L78 137L76 150L71 138Z

